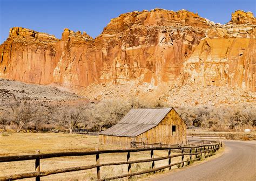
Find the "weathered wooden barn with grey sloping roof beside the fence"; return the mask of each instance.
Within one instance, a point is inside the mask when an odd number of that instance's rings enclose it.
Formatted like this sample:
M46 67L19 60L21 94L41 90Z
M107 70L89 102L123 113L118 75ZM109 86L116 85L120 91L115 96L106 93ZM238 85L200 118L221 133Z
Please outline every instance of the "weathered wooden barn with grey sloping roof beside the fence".
M185 144L186 123L173 108L131 109L123 119L99 135L104 144Z

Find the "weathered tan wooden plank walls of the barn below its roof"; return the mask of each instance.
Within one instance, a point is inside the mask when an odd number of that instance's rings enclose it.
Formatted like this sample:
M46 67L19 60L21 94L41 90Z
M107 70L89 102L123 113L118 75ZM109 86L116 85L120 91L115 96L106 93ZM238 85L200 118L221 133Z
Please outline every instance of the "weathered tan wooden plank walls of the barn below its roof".
M172 135L172 126L176 126L176 135ZM130 145L131 141L145 143L164 143L164 144L185 144L186 123L179 114L172 109L164 119L154 128L147 130L137 137L121 137L99 135L99 141L105 144Z

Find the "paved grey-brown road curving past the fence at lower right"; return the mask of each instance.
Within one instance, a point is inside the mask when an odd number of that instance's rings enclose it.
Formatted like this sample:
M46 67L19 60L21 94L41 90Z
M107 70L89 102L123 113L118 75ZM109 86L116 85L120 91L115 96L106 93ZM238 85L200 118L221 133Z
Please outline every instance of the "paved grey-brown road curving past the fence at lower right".
M224 141L224 154L211 161L151 180L256 180L256 141Z

